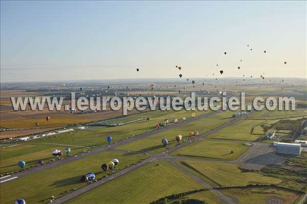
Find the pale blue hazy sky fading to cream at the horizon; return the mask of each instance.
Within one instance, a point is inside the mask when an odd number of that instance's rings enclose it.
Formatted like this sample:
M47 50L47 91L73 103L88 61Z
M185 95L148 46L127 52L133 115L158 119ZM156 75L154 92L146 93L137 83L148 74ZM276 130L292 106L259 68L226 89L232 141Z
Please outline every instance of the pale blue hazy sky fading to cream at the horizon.
M1 82L220 77L220 69L305 78L306 6L1 1Z

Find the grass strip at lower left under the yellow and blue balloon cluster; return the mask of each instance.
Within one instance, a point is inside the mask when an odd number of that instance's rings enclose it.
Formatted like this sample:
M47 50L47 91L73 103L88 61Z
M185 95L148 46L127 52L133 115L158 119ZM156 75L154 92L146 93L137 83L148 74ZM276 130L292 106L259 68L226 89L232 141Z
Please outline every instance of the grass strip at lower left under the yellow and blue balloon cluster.
M63 195L61 192L70 192L72 188L81 188L87 185L80 182L80 178L88 172L94 172L96 179L105 175L106 173L100 167L101 164L114 158L119 160L118 168L125 168L140 159L148 158L148 156L104 151L32 175L20 177L1 184L1 203L13 203L18 197L24 198L27 203L46 203L46 201L40 202L40 200L50 198L52 195L60 197ZM116 186L116 192L118 192L120 186Z

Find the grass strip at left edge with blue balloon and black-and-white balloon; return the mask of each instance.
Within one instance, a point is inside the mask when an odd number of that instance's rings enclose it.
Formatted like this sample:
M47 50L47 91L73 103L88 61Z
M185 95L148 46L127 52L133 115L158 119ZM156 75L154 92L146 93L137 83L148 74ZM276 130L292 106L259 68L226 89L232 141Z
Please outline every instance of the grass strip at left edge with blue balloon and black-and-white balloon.
M69 146L67 146L69 147ZM17 145L17 146L6 146L5 148L1 148L1 173L7 173L12 171L18 171L20 170L20 167L17 166L17 163L21 160L26 162L26 166L34 166L37 165L38 160L43 160L45 163L52 159L56 159L56 157L51 155L51 152L54 149L61 149L63 150L63 156L62 157L68 157L64 149L65 146L57 146L57 145L47 145L47 144L41 144L41 145ZM71 153L70 154L78 154L79 152L83 150L89 150L90 148L80 148L80 147L70 147Z

